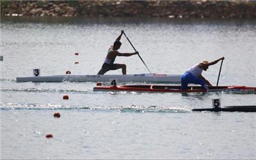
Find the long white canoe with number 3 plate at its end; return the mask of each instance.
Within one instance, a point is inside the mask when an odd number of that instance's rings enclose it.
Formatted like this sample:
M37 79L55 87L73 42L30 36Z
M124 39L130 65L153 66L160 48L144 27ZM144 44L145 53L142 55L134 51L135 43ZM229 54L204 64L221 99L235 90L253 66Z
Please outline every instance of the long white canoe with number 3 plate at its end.
M17 82L117 82L134 83L180 83L181 74L127 74L127 75L56 75L37 77L17 77Z

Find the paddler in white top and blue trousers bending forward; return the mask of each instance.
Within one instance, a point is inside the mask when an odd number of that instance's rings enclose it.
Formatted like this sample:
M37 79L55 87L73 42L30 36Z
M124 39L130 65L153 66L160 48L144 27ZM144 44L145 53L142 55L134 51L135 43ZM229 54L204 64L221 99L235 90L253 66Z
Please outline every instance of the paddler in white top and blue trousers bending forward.
M212 84L202 76L203 70L207 70L210 65L215 65L220 60L224 60L225 58L222 57L218 60L208 62L203 61L202 63L198 63L193 67L189 68L185 74L181 77L181 89L186 90L189 83L193 84L200 84L203 88L207 91L209 90L208 86L212 86Z

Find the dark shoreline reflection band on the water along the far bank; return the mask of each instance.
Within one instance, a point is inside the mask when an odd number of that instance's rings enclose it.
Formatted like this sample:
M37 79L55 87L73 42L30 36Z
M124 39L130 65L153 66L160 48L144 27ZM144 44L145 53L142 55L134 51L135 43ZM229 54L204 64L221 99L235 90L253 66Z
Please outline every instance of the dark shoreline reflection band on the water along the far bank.
M1 17L1 22L45 23L45 24L212 24L225 26L255 25L254 19L169 19L154 17Z

